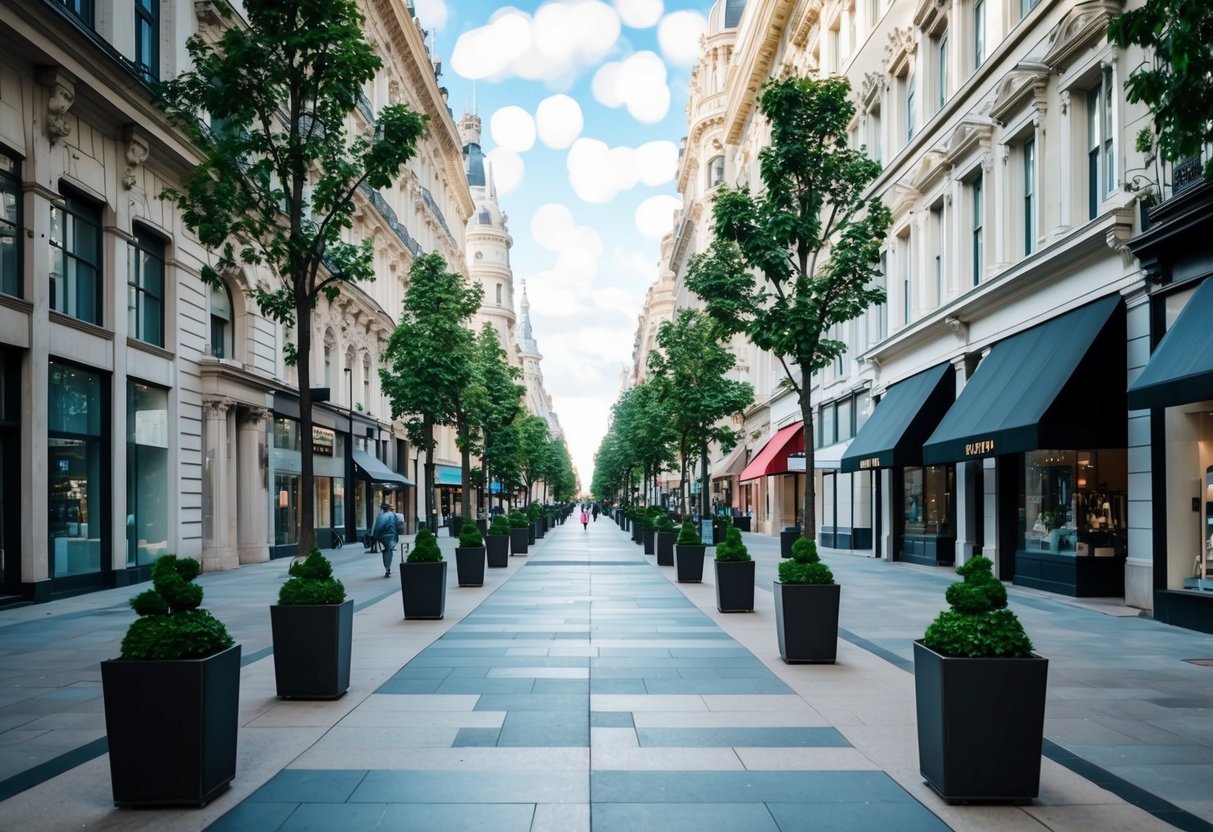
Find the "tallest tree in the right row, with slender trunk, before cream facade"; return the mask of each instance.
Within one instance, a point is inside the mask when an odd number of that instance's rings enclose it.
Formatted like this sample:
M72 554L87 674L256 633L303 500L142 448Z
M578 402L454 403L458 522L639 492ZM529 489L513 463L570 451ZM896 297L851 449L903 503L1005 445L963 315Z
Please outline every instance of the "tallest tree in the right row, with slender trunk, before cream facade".
M849 93L841 78L763 85L758 108L771 131L758 154L763 189L717 192L714 238L687 279L727 331L779 359L799 400L810 473L811 376L847 348L828 334L884 302L873 278L890 217L878 198L864 198L881 165L847 144ZM814 537L813 477L805 479L802 534Z

